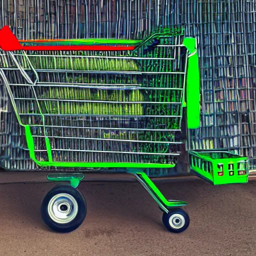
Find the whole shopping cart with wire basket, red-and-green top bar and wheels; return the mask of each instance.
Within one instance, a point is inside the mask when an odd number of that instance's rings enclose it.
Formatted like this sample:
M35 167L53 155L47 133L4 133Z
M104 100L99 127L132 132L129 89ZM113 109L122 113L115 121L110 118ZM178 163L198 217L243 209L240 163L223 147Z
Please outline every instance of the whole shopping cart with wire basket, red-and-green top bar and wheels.
M195 38L161 28L143 40L17 40L4 26L0 48L0 77L38 166L126 168L158 203L169 231L188 227L180 208L187 203L167 200L143 169L177 162L182 107L187 128L199 127ZM75 189L83 174L47 178L70 185L45 195L42 218L53 230L72 231L86 215Z

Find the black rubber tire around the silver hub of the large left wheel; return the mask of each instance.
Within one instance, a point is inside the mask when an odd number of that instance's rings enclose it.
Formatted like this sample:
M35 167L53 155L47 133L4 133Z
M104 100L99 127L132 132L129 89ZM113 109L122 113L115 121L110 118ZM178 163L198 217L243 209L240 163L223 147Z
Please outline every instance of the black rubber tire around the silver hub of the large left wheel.
M58 193L67 193L74 197L78 205L78 212L73 220L68 223L57 223L50 218L48 213L48 203L50 199ZM76 229L86 216L86 202L82 194L75 188L68 185L57 185L53 187L43 198L41 203L41 217L44 223L54 231L67 233Z

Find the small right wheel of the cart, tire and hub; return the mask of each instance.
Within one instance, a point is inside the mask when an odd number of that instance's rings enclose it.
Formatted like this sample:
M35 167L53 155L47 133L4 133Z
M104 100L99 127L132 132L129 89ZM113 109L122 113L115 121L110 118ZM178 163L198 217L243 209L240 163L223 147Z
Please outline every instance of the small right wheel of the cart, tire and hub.
M168 231L180 233L188 227L189 216L183 209L172 209L168 213L163 212L162 222Z

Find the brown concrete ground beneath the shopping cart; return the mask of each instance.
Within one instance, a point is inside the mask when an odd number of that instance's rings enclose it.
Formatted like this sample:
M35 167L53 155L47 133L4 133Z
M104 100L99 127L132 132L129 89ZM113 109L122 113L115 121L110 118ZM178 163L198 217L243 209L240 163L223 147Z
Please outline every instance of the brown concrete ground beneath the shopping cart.
M226 186L199 179L158 183L167 198L188 202L190 225L179 234L165 230L161 211L139 183L85 181L79 190L87 201L87 216L77 230L61 234L50 231L40 218L41 199L54 184L24 179L7 183L13 174L8 175L0 184L0 255L256 253L255 181ZM35 181L29 174L26 179ZM17 181L14 176L12 180Z

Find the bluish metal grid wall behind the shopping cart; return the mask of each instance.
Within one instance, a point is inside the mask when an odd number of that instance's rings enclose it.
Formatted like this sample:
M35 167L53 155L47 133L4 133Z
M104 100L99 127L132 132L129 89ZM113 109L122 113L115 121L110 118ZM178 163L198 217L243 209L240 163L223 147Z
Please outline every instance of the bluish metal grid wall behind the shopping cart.
M197 37L201 73L201 128L188 132L188 148L233 150L248 156L253 169L255 10L255 0L2 0L0 27L10 25L20 39L132 39L143 38L157 26L182 26L186 36ZM16 147L10 148L7 142L8 146L3 143L0 148L6 152L19 147L18 155L26 158L26 150L22 149L26 145L20 142L23 133L15 118L7 117L6 109L10 112L10 108L3 100L6 94L2 95L1 121L11 120L12 131L7 129L4 136L8 141L13 135L18 139ZM3 163L9 168L20 168L18 164L13 157ZM172 170L155 173L168 175Z

